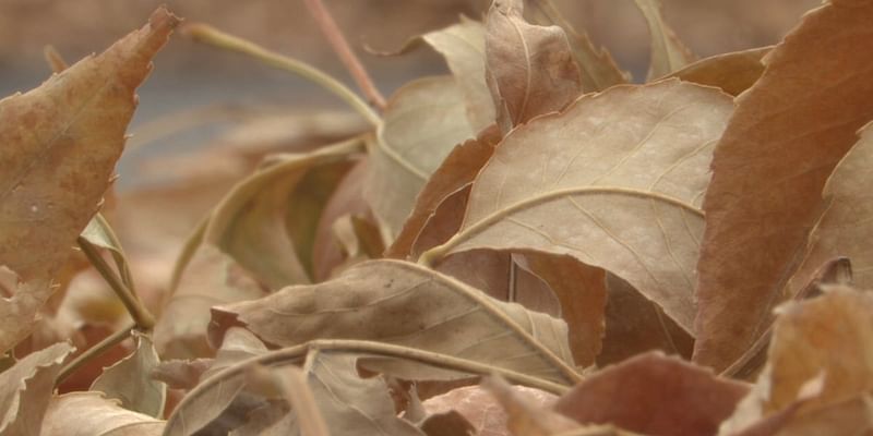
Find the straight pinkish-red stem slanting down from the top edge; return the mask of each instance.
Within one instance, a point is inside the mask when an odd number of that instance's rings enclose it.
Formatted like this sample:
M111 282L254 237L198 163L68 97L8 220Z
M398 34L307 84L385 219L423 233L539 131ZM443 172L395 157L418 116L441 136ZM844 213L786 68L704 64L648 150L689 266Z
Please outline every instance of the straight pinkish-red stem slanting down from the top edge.
M306 0L306 3L307 8L309 8L309 13L315 19L315 22L319 23L319 28L321 28L327 41L331 43L334 52L336 52L336 56L338 56L339 60L346 65L346 69L348 69L348 72L351 74L351 78L358 84L363 95L370 99L370 104L379 109L385 109L385 97L383 97L382 93L373 85L373 81L370 78L370 74L367 73L367 70L364 70L360 59L351 51L351 47L348 46L346 37L343 36L343 32L336 25L331 12L324 8L321 0Z

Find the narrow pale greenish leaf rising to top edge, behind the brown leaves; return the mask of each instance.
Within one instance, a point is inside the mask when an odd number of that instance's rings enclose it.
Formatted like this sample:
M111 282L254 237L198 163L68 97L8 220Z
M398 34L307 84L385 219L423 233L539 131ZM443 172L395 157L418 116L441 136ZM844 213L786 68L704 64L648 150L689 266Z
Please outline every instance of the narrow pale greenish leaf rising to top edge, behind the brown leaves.
M660 0L634 0L639 12L646 19L651 37L651 59L648 68L648 80L662 77L686 64L694 62L695 57L675 36L663 21L663 5Z

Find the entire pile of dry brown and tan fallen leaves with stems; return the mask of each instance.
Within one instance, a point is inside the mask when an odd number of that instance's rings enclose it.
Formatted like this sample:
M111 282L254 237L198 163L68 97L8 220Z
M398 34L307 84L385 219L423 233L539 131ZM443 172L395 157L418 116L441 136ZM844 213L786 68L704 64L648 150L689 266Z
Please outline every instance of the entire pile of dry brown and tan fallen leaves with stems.
M243 134L153 192L113 171L180 19L50 52L0 100L0 435L873 432L873 2L698 60L637 0L644 83L528 3L388 53L451 74L375 107L186 24L363 121Z

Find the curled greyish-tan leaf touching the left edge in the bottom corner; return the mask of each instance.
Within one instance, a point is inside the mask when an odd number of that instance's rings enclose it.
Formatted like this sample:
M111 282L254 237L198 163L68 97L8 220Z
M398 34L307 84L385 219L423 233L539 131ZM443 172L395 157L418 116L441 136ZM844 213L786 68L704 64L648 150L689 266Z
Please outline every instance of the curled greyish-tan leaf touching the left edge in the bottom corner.
M55 377L73 351L56 343L24 356L0 373L0 435L38 435L49 407Z

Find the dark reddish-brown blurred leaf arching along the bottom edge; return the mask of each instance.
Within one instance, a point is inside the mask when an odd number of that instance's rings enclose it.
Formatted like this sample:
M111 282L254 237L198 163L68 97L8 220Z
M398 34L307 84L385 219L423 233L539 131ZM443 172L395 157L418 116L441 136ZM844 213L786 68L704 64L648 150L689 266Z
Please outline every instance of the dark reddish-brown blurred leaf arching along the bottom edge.
M713 435L748 392L745 384L648 352L597 372L554 408L582 424L614 424L645 435Z

